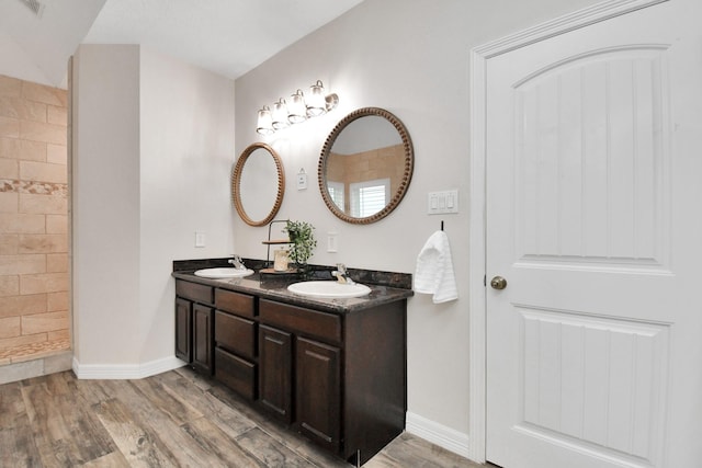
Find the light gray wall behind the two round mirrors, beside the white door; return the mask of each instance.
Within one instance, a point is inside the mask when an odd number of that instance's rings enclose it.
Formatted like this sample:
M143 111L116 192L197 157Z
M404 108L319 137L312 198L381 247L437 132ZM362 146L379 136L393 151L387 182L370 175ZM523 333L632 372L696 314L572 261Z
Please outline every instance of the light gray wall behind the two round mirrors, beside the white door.
M445 221L457 301L433 305L416 295L408 310L408 425L431 425L457 443L468 432L468 149L469 53L473 47L595 3L592 0L366 0L332 23L236 80L236 148L265 141L285 164L287 186L278 218L316 227L312 263L414 273L427 238ZM262 105L308 89L317 79L337 92L337 110L313 122L261 137ZM364 106L397 115L411 135L416 167L401 205L369 226L344 224L325 206L316 170L326 136L344 115ZM297 191L294 174L310 174ZM427 193L460 192L457 215L427 215ZM327 232L338 232L328 253ZM265 228L235 220L237 253L261 258Z

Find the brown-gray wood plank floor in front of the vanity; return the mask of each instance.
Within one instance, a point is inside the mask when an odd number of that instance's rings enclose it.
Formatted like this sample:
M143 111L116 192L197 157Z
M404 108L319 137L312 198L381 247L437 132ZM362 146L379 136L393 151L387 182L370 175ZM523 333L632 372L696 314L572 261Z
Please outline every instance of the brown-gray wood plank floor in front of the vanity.
M1 385L0 467L76 466L350 467L188 368L140 380L63 372ZM407 433L364 466L480 467Z

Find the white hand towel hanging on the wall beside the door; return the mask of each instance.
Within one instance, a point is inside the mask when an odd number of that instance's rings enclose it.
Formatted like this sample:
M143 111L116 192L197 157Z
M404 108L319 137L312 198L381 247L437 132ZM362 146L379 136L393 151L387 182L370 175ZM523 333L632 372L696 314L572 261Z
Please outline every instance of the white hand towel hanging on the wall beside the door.
M451 247L444 231L432 233L417 256L415 292L433 294L432 301L434 304L458 298L451 260Z

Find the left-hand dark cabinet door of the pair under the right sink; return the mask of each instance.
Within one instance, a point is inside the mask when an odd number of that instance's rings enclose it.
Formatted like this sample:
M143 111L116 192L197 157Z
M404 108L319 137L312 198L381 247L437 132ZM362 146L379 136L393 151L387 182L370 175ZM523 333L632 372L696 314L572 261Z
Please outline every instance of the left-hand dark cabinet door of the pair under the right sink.
M259 328L259 398L263 408L279 420L292 422L292 356L290 333Z

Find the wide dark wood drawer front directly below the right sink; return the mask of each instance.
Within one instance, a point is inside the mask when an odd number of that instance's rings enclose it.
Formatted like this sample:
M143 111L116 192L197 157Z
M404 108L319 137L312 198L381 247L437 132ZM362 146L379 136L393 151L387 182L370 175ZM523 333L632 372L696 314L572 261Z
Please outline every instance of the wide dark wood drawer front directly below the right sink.
M261 299L259 316L261 322L284 330L304 333L336 344L341 343L341 317L333 313Z

